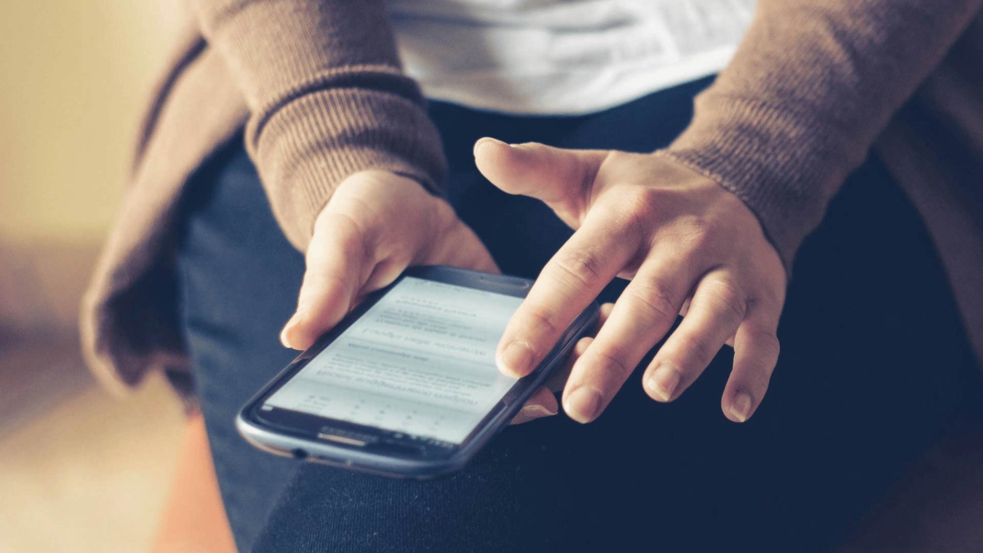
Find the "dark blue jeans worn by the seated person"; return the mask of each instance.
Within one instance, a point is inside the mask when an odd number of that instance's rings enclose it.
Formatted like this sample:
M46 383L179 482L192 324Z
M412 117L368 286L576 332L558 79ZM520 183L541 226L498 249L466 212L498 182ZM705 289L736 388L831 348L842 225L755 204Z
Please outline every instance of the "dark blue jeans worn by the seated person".
M474 167L474 141L652 151L684 128L708 83L577 117L434 102L449 199L505 273L536 276L570 230L539 202L492 187ZM279 459L248 446L232 421L294 355L277 334L303 259L277 228L241 141L196 175L185 214L184 335L242 550L823 550L980 389L931 240L872 157L802 246L781 359L749 423L721 413L725 347L671 404L648 399L637 373L597 422L561 413L510 427L465 470L434 481Z

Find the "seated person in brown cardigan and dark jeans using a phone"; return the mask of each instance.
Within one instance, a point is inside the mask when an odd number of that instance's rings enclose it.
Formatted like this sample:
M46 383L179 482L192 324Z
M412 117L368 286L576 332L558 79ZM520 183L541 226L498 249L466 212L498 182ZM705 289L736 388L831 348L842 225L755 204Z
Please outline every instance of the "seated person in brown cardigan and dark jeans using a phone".
M705 78L648 50L605 73L623 56L590 55L610 51L590 49L588 3L565 4L397 2L390 21L376 0L195 3L83 333L108 385L164 369L193 391L241 549L828 549L976 408L983 3L760 0ZM655 8L595 4L607 36L652 30L625 22ZM523 25L540 34L501 58ZM434 48L464 62L428 66ZM508 374L610 303L522 420L547 416L431 482L236 436L291 357L277 337L304 348L430 263L538 276L499 344Z

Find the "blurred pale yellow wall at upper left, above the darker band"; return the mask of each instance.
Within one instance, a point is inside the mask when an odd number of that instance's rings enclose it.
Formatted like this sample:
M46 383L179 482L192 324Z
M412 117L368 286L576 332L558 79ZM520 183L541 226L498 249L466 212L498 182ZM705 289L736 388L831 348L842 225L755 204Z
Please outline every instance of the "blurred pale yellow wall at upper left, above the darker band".
M167 3L10 2L0 18L0 236L95 243L119 204Z

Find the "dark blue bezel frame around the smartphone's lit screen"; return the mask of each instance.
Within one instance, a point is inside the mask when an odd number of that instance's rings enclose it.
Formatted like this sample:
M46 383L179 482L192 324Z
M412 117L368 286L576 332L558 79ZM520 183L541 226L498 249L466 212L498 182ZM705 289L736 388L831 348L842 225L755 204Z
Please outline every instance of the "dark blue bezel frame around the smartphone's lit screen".
M236 419L240 434L262 450L305 458L389 476L427 478L456 470L469 461L499 430L507 426L533 393L564 359L574 343L596 320L598 305L592 302L564 332L549 355L529 376L519 379L460 444L414 437L378 427L320 417L289 409L263 410L262 403L288 382L311 359L341 336L393 286L406 276L416 276L475 289L525 297L532 280L442 266L407 269L389 285L368 294L331 331L301 352L242 408ZM327 430L325 432L325 430ZM350 438L346 438L350 437ZM350 439L352 443L339 440Z

